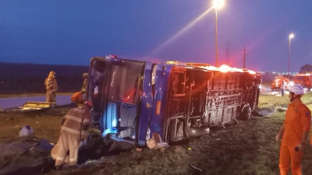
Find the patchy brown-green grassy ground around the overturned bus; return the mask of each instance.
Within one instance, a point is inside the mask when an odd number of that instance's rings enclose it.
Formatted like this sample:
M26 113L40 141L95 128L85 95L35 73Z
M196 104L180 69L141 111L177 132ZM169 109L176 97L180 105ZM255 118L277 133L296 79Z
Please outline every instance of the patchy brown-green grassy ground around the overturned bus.
M305 95L302 101L312 109L311 94ZM239 121L238 125L226 125L226 129L212 129L209 135L171 144L164 152L134 149L49 174L277 175L280 145L275 136L288 103L287 97L262 95L259 109L272 111L269 115L253 116L249 121ZM35 136L56 143L61 117L1 115L0 142L14 139L20 127L30 124ZM311 166L312 146L308 144L302 163L303 174L312 174Z

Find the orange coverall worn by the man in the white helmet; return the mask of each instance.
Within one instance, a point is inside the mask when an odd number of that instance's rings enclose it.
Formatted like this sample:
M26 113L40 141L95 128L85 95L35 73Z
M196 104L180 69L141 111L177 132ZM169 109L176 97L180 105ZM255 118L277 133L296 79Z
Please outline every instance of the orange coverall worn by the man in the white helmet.
M280 146L280 174L287 175L291 165L292 175L301 175L303 152L295 151L302 141L303 131L309 132L311 127L310 109L300 101L299 105L288 105L284 120L285 130Z

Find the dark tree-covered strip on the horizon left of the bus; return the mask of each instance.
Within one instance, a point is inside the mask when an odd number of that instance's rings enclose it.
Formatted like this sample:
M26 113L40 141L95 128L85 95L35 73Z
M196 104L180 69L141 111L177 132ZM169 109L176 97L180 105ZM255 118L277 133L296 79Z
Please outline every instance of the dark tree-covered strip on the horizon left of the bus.
M45 93L44 82L50 71L56 72L58 92L76 92L83 84L88 66L0 63L0 93Z

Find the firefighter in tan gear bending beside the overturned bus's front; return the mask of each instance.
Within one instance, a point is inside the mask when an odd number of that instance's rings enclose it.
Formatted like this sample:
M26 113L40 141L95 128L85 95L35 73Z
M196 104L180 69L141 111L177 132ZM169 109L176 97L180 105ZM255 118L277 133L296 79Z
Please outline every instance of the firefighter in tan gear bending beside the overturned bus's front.
M84 140L90 125L92 102L86 101L82 107L71 109L63 118L55 167L60 169L69 151L69 165L77 164L80 140Z

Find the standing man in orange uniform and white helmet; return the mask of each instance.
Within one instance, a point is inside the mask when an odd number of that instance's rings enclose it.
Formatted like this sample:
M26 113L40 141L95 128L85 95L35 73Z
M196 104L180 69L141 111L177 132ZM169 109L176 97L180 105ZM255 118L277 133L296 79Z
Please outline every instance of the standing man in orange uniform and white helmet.
M311 126L311 111L300 100L304 94L301 85L290 87L286 116L276 141L282 139L280 145L280 174L287 175L291 168L292 175L301 175L301 160L305 151L305 144Z

